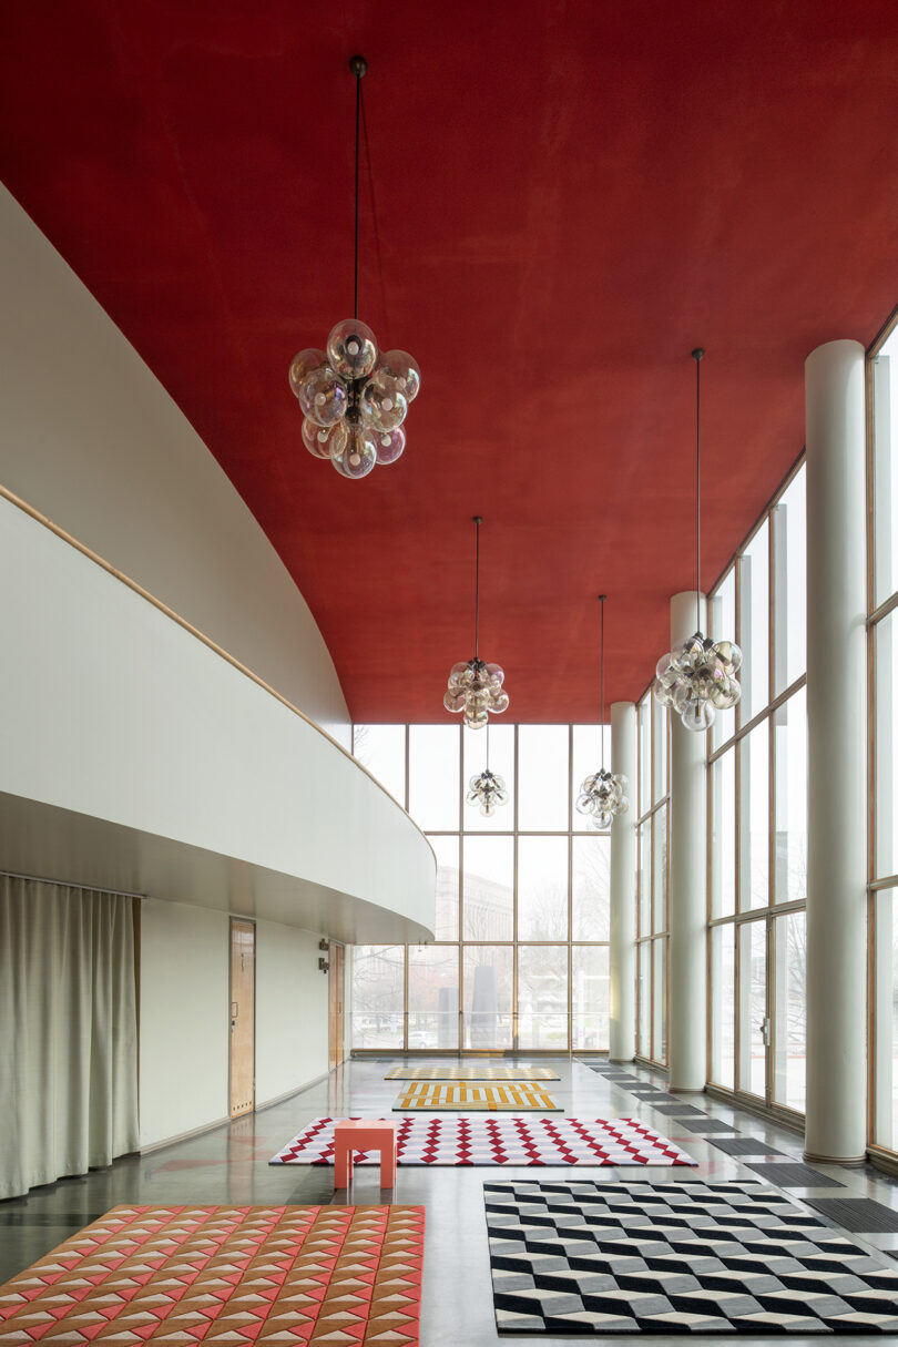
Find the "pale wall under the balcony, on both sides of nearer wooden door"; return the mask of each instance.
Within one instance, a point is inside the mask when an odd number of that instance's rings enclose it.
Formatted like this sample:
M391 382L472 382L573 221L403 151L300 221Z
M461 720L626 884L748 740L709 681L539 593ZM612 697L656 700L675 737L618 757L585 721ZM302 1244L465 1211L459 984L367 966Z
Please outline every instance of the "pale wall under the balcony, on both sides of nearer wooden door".
M223 912L147 900L140 912L140 1144L228 1118L229 929ZM256 923L256 1106L327 1072L318 936Z

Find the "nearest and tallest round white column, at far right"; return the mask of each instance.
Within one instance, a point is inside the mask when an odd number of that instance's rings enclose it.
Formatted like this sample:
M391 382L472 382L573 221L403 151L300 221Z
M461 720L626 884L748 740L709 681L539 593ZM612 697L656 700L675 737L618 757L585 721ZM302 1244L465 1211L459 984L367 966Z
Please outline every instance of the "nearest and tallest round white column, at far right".
M864 349L805 361L808 1079L805 1154L863 1160L867 1127Z

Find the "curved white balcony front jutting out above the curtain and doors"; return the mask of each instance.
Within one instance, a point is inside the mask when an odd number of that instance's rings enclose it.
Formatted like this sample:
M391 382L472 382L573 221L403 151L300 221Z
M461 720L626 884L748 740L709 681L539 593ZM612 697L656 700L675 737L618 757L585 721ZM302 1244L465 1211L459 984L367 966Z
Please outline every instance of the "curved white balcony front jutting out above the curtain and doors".
M314 725L3 498L0 612L0 792L131 830L110 888L140 884L350 942L427 939L434 853L392 797ZM145 835L254 872L237 896L201 897L186 880L171 894L164 876L144 884ZM57 863L51 877L70 880L65 855ZM390 927L393 916L416 929Z

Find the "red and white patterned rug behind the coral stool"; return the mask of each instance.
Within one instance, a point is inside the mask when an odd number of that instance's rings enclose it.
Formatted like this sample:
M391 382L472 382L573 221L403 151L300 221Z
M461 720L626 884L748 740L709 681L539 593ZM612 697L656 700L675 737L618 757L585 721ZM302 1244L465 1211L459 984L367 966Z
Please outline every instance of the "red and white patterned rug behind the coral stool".
M315 1118L269 1161L333 1165L335 1118ZM403 1118L400 1165L693 1165L666 1137L631 1118ZM355 1152L355 1164L380 1164Z

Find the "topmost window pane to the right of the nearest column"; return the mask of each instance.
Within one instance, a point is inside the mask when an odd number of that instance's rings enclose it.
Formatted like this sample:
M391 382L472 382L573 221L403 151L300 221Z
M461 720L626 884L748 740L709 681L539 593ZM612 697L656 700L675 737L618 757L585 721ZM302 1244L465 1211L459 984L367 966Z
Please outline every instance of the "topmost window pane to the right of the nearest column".
M871 362L876 605L898 590L898 330Z

